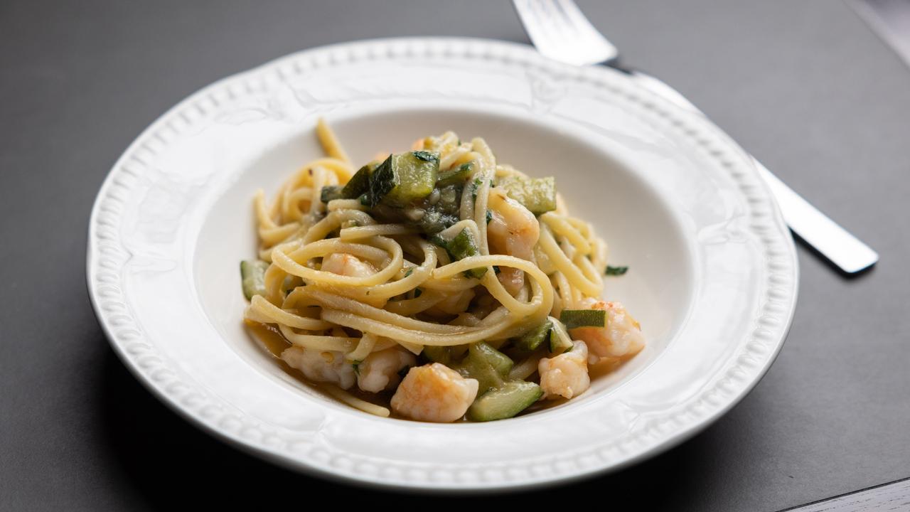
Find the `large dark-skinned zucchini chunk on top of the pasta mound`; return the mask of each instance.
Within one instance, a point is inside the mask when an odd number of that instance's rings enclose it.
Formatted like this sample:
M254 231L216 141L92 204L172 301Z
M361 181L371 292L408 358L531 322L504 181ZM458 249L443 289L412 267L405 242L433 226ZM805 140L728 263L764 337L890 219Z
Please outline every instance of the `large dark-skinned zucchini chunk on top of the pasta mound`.
M369 179L369 204L403 206L430 195L440 169L440 154L408 151L389 155Z

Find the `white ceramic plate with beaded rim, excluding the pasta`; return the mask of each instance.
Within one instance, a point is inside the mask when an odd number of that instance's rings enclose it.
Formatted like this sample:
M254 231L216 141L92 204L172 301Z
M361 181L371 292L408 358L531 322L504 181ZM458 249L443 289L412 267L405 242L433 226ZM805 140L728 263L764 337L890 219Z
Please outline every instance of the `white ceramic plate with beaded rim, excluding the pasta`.
M366 415L285 374L241 323L251 198L319 156L355 161L446 129L555 175L610 243L606 296L644 353L568 404L489 424ZM116 353L178 413L283 466L379 486L538 486L680 443L752 389L796 300L793 241L750 159L705 118L605 67L527 46L388 39L280 58L206 87L126 149L98 193L88 288Z

